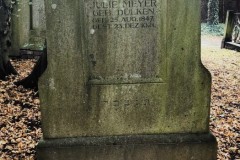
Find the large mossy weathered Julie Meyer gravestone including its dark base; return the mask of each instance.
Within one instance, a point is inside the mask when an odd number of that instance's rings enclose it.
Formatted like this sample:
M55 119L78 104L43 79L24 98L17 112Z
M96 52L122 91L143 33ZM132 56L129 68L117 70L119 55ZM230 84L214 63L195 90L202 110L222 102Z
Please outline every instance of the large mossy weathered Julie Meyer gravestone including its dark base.
M45 2L39 159L216 159L200 1Z

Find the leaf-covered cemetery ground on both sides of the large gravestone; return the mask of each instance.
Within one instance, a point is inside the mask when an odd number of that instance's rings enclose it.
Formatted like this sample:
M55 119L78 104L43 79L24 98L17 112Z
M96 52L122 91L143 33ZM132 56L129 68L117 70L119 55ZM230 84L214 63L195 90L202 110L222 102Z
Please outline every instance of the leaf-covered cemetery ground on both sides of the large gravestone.
M212 75L210 129L219 160L240 160L240 53L220 49L220 36L202 36L202 61ZM15 86L34 60L13 60L18 76L0 81L0 160L35 159L42 137L38 92Z

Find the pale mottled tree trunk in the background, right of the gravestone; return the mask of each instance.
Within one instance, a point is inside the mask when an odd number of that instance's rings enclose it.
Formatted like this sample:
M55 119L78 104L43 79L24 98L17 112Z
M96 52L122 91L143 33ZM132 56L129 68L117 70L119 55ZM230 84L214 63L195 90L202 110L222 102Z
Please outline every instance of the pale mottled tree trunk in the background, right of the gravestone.
M208 24L219 24L219 0L208 1Z

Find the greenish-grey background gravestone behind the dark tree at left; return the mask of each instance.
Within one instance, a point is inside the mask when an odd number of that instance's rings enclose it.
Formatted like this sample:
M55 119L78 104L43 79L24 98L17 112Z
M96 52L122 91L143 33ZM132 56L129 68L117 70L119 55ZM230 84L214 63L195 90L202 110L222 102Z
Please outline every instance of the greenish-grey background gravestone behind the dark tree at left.
M20 49L42 51L46 32L44 0L16 1L13 7L10 56L21 56Z

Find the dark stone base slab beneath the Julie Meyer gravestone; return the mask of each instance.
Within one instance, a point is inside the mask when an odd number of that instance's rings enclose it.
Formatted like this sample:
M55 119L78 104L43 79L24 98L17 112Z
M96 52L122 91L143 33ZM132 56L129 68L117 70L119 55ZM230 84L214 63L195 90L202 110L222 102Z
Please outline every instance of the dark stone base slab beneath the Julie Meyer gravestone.
M38 160L216 160L211 134L164 134L45 139Z

